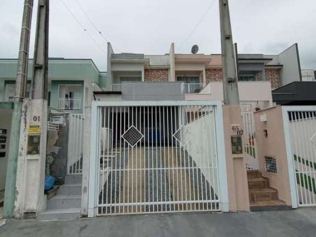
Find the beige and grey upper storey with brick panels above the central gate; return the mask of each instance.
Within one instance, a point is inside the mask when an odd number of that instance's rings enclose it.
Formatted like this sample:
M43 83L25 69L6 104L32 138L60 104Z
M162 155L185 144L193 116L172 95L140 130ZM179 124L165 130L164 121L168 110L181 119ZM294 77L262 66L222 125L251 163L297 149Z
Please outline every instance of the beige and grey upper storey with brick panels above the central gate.
M182 82L186 100L223 100L221 55L177 54L174 47L164 55L117 54L109 43L105 90L120 91L124 97L131 93L124 91L126 82ZM247 110L272 106L272 89L301 80L297 44L277 55L238 54L237 44L235 49L240 103ZM142 91L133 92L134 98ZM114 97L120 98L107 95Z

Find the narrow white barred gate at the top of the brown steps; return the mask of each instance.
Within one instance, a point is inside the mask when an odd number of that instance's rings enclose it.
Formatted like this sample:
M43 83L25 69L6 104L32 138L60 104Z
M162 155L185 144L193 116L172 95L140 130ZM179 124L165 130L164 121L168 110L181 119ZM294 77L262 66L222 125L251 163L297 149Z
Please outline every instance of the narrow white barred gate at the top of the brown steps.
M252 112L242 112L242 130L243 130L243 153L246 158L247 169L259 169L257 136L255 129L254 114Z

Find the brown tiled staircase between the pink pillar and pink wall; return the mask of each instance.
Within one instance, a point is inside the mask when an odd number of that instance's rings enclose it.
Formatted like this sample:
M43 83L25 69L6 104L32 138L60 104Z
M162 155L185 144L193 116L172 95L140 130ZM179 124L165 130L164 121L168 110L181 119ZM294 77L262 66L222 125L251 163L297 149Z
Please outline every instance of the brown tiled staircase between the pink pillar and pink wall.
M270 187L269 178L258 170L247 170L249 201L251 211L271 211L291 209L278 199L277 190Z

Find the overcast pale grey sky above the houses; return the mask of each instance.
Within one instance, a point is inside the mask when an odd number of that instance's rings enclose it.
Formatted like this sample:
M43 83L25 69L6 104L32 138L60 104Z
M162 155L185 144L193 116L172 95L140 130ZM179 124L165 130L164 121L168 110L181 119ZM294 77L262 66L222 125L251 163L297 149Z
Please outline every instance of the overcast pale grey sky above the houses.
M0 0L0 58L17 58L23 3ZM239 53L279 54L298 43L302 69L316 70L315 0L229 3ZM199 53L221 52L218 0L50 0L49 20L49 57L91 58L100 71L106 71L107 40L116 53L165 54L172 42L176 53L190 53L194 44Z

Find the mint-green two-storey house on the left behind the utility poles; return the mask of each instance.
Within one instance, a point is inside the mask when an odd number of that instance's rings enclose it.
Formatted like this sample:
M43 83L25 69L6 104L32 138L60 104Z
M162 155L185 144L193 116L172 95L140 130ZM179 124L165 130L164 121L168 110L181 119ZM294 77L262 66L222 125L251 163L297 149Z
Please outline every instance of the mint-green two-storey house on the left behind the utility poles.
M30 95L32 63L33 60L29 60L26 98ZM50 58L48 68L50 118L54 115L68 118L69 114L84 114L84 108L89 106L87 98L91 98L92 91L102 90L100 86L105 86L106 73L100 72L91 59ZM0 191L5 187L16 69L17 59L0 59ZM48 141L50 136L48 133ZM68 140L68 134L65 134L65 138ZM53 145L51 144L54 148ZM51 150L53 149L48 147L48 154Z

